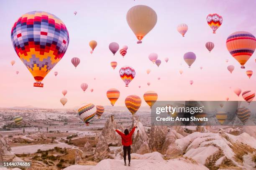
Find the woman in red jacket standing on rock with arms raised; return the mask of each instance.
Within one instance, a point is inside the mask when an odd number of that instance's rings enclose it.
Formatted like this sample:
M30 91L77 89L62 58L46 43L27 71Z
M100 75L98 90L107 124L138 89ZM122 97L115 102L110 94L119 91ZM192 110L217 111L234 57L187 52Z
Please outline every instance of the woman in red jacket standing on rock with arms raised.
M135 128L137 128L137 126L133 127L133 129L131 130L131 132L129 133L128 129L125 129L124 133L120 132L119 130L115 129L115 131L121 136L122 138L122 145L123 145L123 160L125 161L125 165L126 165L126 152L128 153L128 166L130 166L131 164L131 145L132 145L132 136L134 133Z

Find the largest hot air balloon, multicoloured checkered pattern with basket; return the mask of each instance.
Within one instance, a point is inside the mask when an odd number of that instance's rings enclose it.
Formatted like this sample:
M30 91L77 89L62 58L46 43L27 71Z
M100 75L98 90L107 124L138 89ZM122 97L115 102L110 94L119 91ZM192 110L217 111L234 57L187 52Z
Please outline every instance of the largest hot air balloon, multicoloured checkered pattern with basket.
M55 15L32 11L22 15L11 30L13 47L36 80L35 87L61 60L69 45L65 24Z

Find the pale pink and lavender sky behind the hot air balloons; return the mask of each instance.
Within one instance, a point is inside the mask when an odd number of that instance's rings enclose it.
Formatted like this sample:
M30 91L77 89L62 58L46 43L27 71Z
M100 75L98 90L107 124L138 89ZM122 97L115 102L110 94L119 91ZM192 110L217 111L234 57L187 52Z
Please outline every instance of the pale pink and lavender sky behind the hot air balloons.
M233 32L248 31L256 35L256 1L254 0L13 0L0 1L0 107L26 106L45 108L63 108L60 103L62 90L67 90L66 108L77 107L82 103L110 105L106 92L117 88L120 97L115 105L124 106L125 97L138 95L142 99L144 92L153 90L158 93L158 100L243 100L237 97L233 89L256 91L256 76L249 80L246 70L255 71L256 54L241 69L240 64L229 54L225 41ZM127 11L135 5L147 5L157 14L155 27L137 44L126 22ZM69 31L69 47L60 62L44 78L44 87L33 87L33 76L18 58L10 39L10 31L15 21L23 14L41 10L59 17ZM74 15L77 11L77 15ZM212 34L207 25L206 16L218 13L223 17L223 24ZM186 23L188 31L185 37L177 31L177 25ZM90 40L98 45L90 54ZM205 48L205 43L215 44L212 52ZM115 56L110 52L110 42L117 42L120 47L128 46L123 58L119 52ZM191 68L183 60L186 52L192 51L197 59ZM157 67L148 55L156 52L162 61ZM74 68L72 57L79 57L81 62ZM164 62L164 58L169 61ZM225 60L229 62L226 63ZM10 61L15 60L11 66ZM118 62L113 70L111 61ZM133 67L136 76L125 87L119 76L119 69L124 65ZM234 65L232 74L228 65ZM200 70L200 66L203 67ZM146 70L151 69L149 75ZM179 74L183 70L183 74ZM19 74L16 75L16 71ZM54 71L59 74L55 77ZM94 80L94 77L96 80ZM157 78L161 77L160 80ZM190 85L189 81L194 84ZM83 92L81 83L87 83ZM147 82L151 82L148 86ZM141 88L138 88L138 86ZM229 88L231 87L231 88ZM90 92L90 89L94 89Z

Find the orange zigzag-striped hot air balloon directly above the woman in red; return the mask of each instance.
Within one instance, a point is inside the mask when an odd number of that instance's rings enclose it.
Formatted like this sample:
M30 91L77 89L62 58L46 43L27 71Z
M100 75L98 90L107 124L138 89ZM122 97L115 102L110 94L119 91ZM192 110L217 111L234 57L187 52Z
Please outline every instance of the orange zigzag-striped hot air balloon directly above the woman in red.
M125 105L131 114L134 115L141 106L141 98L137 95L129 95L125 98Z

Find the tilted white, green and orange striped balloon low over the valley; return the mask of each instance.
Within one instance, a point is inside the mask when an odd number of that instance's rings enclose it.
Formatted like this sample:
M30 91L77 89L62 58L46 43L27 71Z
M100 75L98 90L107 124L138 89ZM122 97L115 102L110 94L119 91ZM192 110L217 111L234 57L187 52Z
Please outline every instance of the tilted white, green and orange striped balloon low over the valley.
M78 115L88 126L89 121L96 115L96 111L97 110L94 104L84 104L78 109Z

